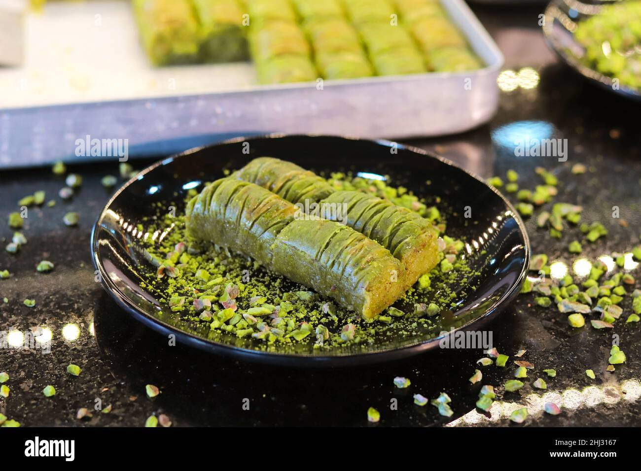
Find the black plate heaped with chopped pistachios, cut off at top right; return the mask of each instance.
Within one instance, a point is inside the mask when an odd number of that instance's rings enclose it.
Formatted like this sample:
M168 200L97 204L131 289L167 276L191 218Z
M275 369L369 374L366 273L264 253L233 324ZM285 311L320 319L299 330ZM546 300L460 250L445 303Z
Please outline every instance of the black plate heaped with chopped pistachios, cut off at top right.
M584 47L574 38L572 29L580 25L581 21L599 12L601 5L612 1L586 1L553 0L545 8L545 21L543 34L545 43L559 58L576 72L587 78L592 83L610 90L615 94L641 100L641 90L620 85L619 89L613 88L612 78L590 69L581 62L585 54Z

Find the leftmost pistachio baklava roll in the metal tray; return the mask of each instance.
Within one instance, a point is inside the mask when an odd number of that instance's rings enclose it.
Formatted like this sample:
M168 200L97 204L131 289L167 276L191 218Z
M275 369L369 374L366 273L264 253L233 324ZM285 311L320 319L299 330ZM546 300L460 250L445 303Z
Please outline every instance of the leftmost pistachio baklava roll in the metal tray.
M188 0L133 0L142 45L154 65L197 61L201 32Z

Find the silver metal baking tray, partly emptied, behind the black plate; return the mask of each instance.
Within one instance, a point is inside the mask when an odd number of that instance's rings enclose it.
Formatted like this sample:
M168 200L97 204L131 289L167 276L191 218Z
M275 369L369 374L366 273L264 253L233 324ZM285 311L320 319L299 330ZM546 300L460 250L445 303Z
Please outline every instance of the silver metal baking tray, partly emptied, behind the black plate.
M151 67L127 2L48 3L28 15L24 65L0 69L0 167L113 158L76 152L87 139L126 140L128 156L147 156L235 135L397 139L475 128L497 110L503 54L463 0L441 1L484 69L322 89L255 85L251 63Z

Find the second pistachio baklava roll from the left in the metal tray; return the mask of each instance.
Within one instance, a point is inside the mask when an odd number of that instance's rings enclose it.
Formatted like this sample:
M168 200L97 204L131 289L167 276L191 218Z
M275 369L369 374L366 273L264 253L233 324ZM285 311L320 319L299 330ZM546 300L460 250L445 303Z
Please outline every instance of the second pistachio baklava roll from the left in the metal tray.
M203 62L237 62L249 58L238 0L192 0L201 27Z

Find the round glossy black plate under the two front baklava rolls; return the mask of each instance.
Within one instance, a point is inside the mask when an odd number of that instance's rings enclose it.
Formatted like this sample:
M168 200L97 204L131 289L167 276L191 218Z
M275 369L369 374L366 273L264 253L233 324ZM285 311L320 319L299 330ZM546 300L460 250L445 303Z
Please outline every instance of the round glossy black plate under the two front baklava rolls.
M244 143L247 144L244 144ZM249 149L249 154L244 150ZM458 286L462 296L456 311L442 311L442 329L476 329L479 321L494 317L519 293L529 264L529 241L523 223L498 192L451 162L390 142L373 142L330 136L264 136L238 138L222 144L187 151L142 170L106 204L92 232L92 259L100 271L105 290L128 313L147 326L176 335L180 342L206 351L231 354L244 359L284 365L354 365L402 358L437 347L444 335L378 338L372 345L345 349L315 350L297 343L265 351L253 338L228 334L208 338L206 329L194 330L176 320L139 283L146 278L136 228L144 217L153 216L155 204L176 202L183 211L189 188L238 169L257 156L274 156L294 161L317 172L351 170L390 176L393 185L404 185L419 196L440 197L451 207L447 233L469 242L470 265L478 276ZM431 181L428 185L426 181ZM469 219L463 217L470 206ZM154 269L155 270L155 269ZM280 349L280 350L279 350Z

